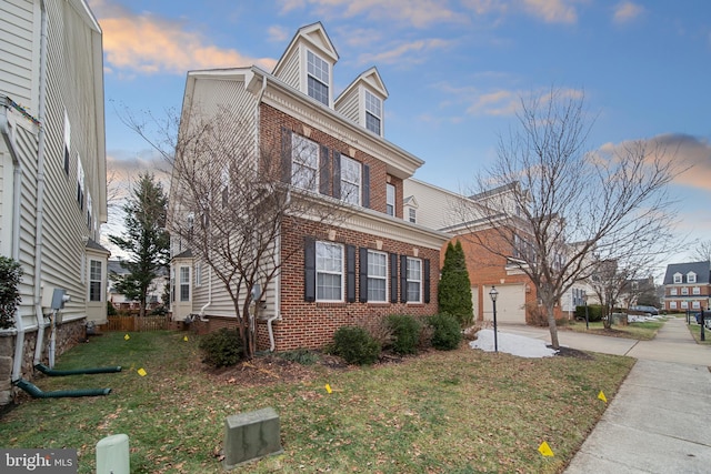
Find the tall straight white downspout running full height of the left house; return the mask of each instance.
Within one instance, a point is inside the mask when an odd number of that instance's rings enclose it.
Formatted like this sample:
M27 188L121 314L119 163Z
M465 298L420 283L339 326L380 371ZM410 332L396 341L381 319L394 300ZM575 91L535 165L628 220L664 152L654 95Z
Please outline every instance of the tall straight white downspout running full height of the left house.
M42 12L40 30L40 87L39 87L39 144L37 150L37 218L34 223L34 313L37 317L37 345L32 365L42 362L44 345L44 315L42 314L42 223L44 221L44 144L47 109L47 6L40 1Z

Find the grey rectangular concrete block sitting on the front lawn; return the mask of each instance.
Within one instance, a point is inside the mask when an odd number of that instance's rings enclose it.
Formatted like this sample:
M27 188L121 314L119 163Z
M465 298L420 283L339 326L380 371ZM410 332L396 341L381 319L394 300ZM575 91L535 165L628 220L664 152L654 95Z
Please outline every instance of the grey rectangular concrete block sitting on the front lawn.
M270 454L280 454L281 434L279 415L268 407L256 412L227 417L224 433L224 460L222 465L231 470L249 461Z

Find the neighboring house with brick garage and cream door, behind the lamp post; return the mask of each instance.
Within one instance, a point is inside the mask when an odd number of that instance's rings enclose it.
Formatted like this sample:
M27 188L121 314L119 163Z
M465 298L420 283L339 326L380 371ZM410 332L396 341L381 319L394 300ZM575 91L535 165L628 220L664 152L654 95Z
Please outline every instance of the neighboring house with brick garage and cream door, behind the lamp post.
M493 302L489 292L495 286L499 292L497 320L527 323L533 320L532 311L538 309L538 296L531 280L514 262L515 250L511 249L510 259L492 254L478 244L475 238L475 234L483 240L497 238L487 220L462 222L461 213L457 211L462 201L467 201L464 205L471 205L471 202L507 192L510 192L510 186L493 189L482 195L463 196L417 179L408 179L403 183L404 215L417 216L418 224L449 233L452 242L460 240L467 258L475 321L493 319ZM564 305L559 306L559 311L574 311L574 305L582 305L582 288L571 290L570 297L564 299Z

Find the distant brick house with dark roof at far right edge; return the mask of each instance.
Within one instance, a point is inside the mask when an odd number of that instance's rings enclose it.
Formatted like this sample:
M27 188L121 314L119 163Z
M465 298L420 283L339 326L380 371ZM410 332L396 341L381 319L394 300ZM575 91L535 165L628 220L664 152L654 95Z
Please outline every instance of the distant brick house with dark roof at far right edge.
M664 310L701 311L711 305L711 262L672 263L664 273Z

